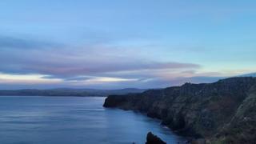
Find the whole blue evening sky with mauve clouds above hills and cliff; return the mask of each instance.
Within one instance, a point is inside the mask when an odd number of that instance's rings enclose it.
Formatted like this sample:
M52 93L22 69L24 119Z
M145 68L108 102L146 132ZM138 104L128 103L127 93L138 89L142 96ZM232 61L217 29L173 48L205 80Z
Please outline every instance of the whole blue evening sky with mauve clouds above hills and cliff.
M256 72L253 0L1 0L0 89L121 89Z

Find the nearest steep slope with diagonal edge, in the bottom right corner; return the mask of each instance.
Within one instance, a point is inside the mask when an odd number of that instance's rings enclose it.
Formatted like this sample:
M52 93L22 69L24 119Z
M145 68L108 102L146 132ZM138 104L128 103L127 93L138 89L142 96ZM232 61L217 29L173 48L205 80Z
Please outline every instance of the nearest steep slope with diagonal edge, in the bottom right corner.
M256 143L256 86L215 139L222 143Z

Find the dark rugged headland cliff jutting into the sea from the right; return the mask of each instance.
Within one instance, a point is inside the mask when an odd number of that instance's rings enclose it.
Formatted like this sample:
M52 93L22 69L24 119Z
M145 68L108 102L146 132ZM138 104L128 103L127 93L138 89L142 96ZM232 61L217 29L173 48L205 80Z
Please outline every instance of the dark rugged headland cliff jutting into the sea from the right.
M138 110L183 135L212 142L255 142L256 78L227 78L141 94L110 95L106 107Z

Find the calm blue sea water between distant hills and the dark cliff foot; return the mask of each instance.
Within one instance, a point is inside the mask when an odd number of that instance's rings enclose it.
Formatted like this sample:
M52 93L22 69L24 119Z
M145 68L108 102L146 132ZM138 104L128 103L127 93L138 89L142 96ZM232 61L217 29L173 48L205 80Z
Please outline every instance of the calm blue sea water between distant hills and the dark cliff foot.
M157 120L103 108L104 99L0 97L0 143L144 143L148 131L168 143L183 141Z

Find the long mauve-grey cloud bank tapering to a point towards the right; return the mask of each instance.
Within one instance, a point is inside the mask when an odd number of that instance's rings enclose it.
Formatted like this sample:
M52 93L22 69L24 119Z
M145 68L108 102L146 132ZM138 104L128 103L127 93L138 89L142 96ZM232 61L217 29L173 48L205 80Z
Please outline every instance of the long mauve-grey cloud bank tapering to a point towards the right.
M40 49L46 46L45 43L31 43L17 38L2 38L0 70L5 73L69 77L127 70L198 69L200 67L197 64L184 62L154 62L139 58L136 50L132 52L127 50L129 53L126 54L126 50L114 47L61 47L54 44L48 46L55 46L54 49ZM25 50L24 46L34 47L34 49Z

